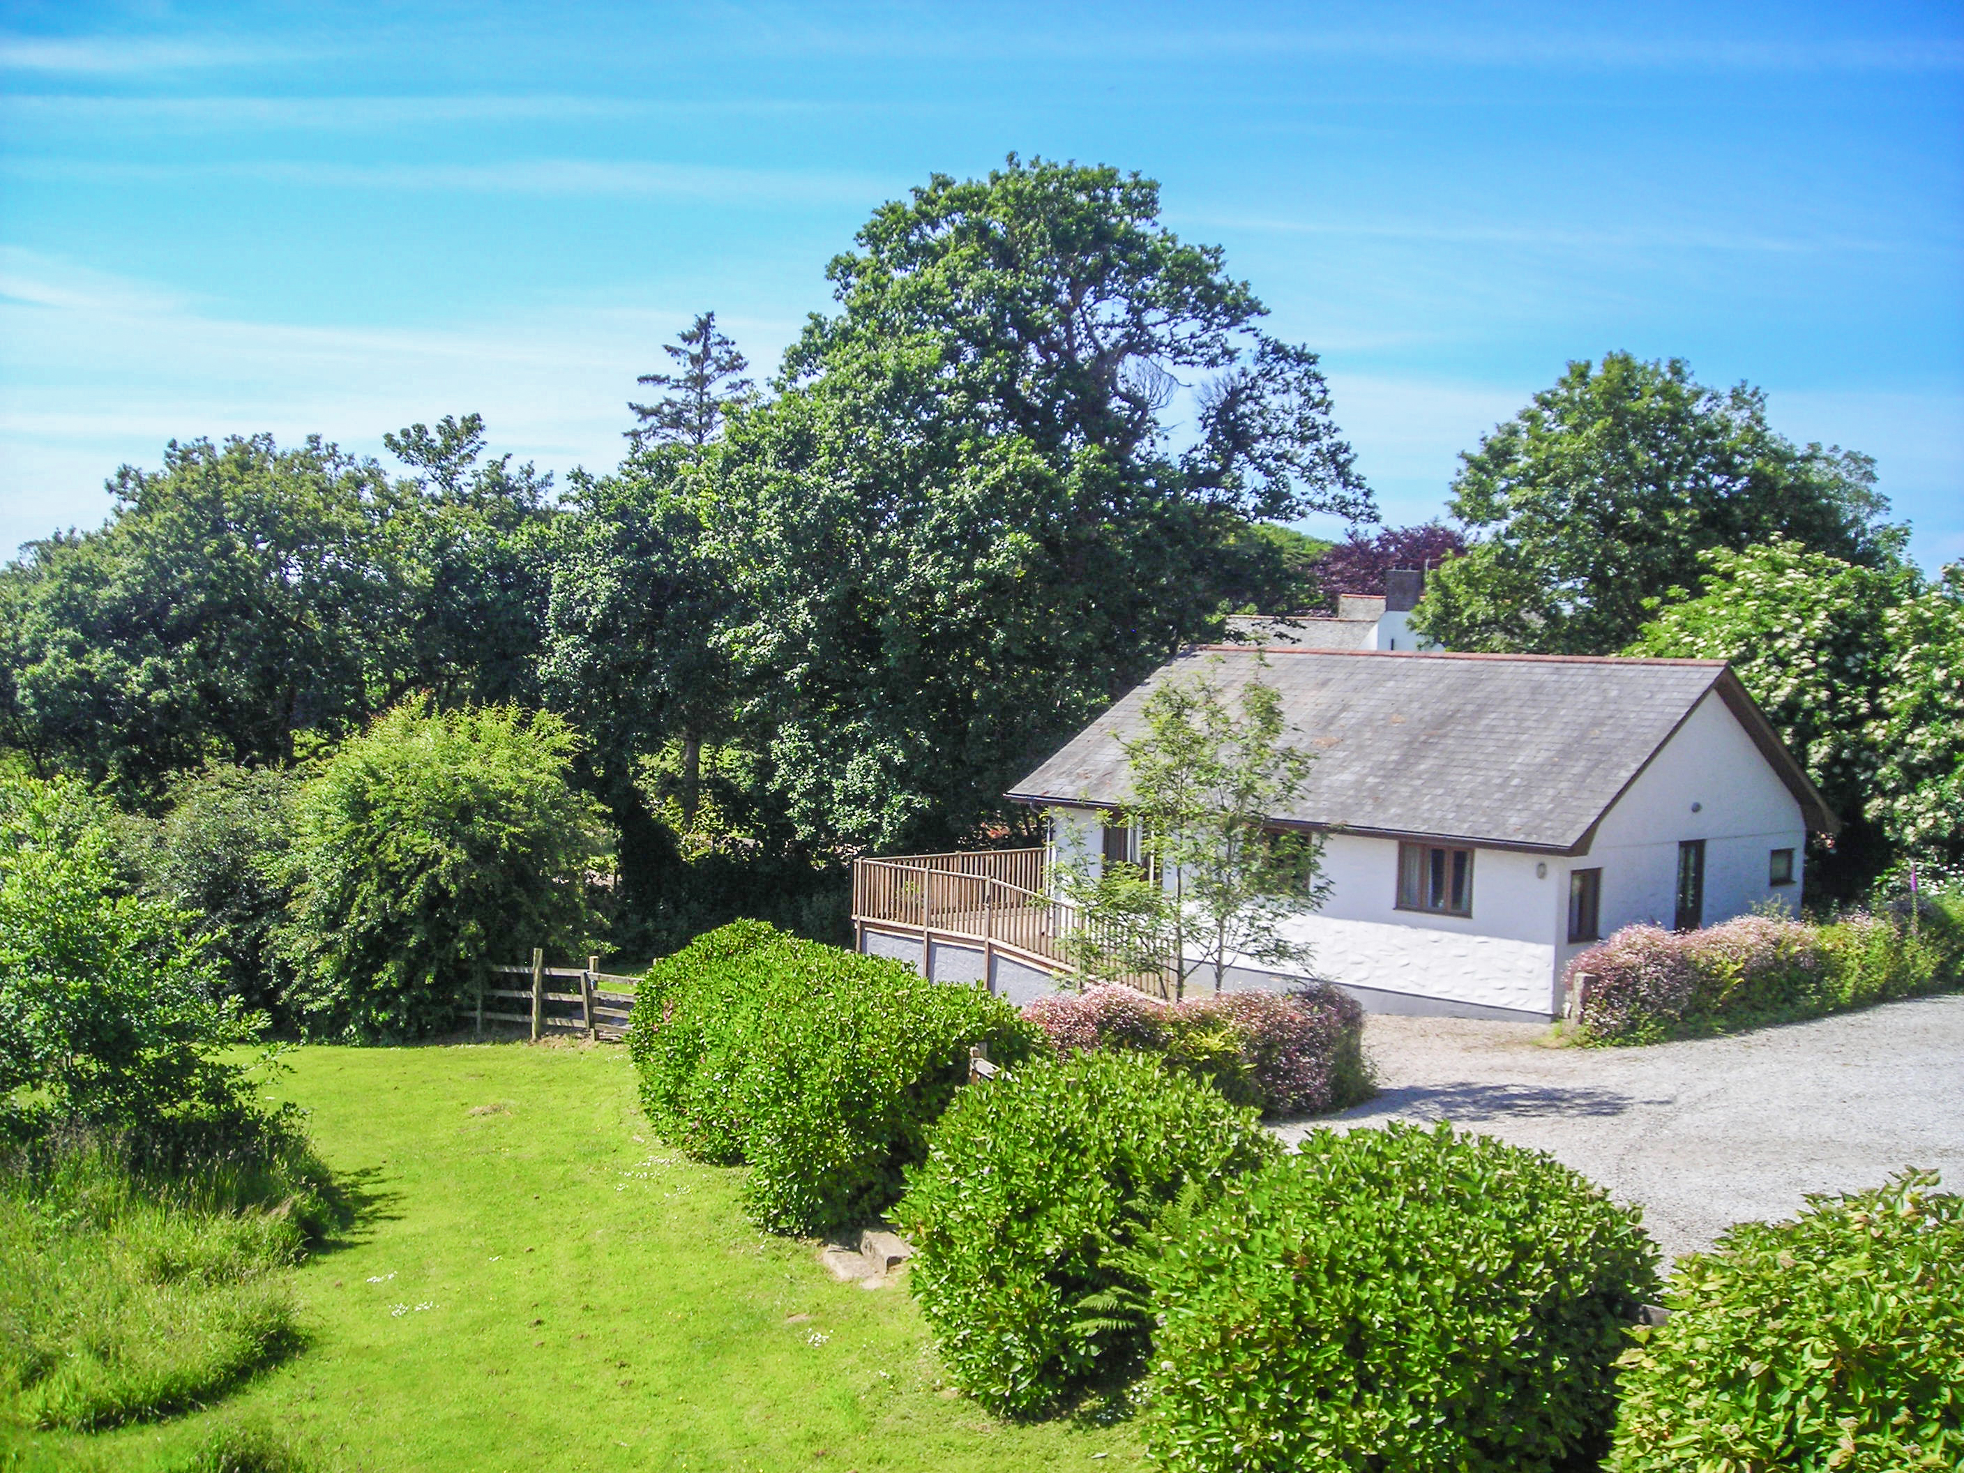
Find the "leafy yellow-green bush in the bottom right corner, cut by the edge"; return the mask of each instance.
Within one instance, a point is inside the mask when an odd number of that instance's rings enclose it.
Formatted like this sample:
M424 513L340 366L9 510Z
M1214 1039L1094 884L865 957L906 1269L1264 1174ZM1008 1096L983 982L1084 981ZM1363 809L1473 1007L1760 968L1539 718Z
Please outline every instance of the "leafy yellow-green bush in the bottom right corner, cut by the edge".
M1624 1355L1616 1473L1964 1467L1964 1198L1811 1196L1679 1259Z

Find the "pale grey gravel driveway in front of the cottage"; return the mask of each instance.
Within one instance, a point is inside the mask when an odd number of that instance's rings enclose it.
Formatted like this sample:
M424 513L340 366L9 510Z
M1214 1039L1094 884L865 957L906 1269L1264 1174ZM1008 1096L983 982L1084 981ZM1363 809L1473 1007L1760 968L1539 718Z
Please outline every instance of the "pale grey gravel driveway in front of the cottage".
M1451 1119L1638 1202L1665 1259L1805 1192L1935 1167L1964 1192L1964 996L1648 1049L1550 1049L1534 1023L1365 1019L1383 1092L1347 1125ZM1312 1123L1281 1125L1296 1139Z

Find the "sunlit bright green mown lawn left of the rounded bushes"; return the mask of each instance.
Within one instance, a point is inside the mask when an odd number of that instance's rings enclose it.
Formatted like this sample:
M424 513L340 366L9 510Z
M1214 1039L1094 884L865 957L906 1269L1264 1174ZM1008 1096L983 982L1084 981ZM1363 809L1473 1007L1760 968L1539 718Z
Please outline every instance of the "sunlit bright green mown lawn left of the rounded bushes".
M1112 1469L1129 1426L943 1389L903 1288L754 1231L654 1141L613 1045L300 1049L281 1094L363 1196L297 1271L310 1343L218 1408L16 1438L0 1467L167 1467L212 1418L350 1469Z

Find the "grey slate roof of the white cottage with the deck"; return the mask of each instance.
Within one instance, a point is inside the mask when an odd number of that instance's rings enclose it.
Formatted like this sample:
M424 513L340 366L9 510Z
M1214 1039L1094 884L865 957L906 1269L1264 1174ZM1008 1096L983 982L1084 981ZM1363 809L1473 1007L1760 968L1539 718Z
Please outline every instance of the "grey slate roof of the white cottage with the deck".
M1722 660L1188 650L1129 691L1008 795L1106 805L1125 797L1125 752L1167 680L1200 674L1229 695L1259 680L1282 695L1318 754L1281 823L1499 848L1585 852L1597 823L1709 693L1738 717L1811 829L1840 827Z

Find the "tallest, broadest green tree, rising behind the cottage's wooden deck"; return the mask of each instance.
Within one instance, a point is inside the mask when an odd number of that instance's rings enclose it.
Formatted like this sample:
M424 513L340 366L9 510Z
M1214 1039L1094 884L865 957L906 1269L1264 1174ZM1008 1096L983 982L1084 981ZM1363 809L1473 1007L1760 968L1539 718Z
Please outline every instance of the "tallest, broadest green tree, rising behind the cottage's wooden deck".
M949 843L1210 627L1251 520L1371 499L1316 355L1139 175L1011 155L856 246L705 460L721 638L801 835Z

